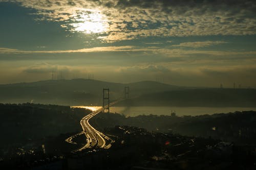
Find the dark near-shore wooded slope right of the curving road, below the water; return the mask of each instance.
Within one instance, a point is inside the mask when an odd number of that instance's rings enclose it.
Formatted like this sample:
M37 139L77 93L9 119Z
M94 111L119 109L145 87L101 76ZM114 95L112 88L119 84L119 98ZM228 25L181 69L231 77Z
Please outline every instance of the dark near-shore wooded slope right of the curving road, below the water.
M100 131L116 125L125 125L145 128L148 131L172 132L185 136L206 138L211 136L215 139L240 144L255 144L256 142L255 111L198 116L139 115L136 117L101 113L90 120L90 123Z

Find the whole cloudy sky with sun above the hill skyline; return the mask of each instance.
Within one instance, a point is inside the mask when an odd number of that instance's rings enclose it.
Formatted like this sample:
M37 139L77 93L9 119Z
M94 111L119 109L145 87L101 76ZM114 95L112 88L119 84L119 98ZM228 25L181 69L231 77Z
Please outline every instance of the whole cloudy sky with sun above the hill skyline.
M0 84L256 88L255 16L255 1L0 0Z

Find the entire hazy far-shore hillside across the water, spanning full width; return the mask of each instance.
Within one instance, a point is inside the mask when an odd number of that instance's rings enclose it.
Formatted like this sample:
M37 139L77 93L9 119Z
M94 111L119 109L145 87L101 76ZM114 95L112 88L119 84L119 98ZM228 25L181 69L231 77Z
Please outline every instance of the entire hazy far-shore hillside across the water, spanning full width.
M102 105L102 89L110 89L110 100L123 98L130 87L130 100L119 106L256 106L255 89L189 88L154 81L129 84L89 79L47 80L0 85L0 103L58 105Z

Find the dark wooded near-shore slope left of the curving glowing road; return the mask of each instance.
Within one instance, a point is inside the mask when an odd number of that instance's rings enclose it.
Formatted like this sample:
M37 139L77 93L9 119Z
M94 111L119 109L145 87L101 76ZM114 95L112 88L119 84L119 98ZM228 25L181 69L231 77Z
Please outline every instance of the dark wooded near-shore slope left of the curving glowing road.
M90 112L58 105L0 104L0 132L5 138L0 141L0 149L8 144L22 147L47 136L79 132L80 118Z

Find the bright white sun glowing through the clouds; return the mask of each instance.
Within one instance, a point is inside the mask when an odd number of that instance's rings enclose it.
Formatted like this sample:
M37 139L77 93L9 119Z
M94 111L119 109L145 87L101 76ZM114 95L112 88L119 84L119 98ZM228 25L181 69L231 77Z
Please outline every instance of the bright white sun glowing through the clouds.
M99 12L90 12L78 15L74 18L75 23L71 23L73 31L86 34L103 33L109 28L108 21Z

